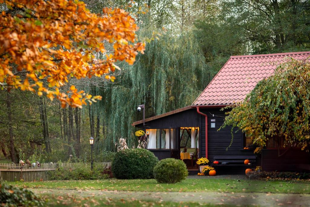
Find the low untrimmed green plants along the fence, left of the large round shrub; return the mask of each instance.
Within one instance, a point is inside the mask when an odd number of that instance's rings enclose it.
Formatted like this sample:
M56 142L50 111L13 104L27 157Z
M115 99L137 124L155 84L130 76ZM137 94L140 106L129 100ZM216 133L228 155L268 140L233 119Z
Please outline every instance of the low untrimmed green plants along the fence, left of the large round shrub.
M90 164L71 168L59 167L51 171L52 180L100 180L110 178L111 169L102 165L94 165L91 170Z

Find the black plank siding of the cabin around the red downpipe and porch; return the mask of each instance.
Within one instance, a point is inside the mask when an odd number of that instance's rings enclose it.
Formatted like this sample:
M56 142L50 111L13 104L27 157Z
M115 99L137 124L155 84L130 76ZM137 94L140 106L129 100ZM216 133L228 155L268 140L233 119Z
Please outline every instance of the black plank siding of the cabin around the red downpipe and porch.
M253 151L243 150L243 134L241 131L234 132L234 138L232 146L229 146L231 141L231 127L226 127L217 131L224 122L225 111L221 111L220 108L200 108L200 111L208 115L208 158L213 160L215 155L253 155ZM214 114L214 116L213 116ZM215 128L211 128L211 119L215 119ZM197 113L197 109L189 109L176 114L165 116L159 119L155 119L146 122L145 128L171 128L171 127L199 127L200 139L200 157L206 156L206 128L205 117ZM142 124L136 127L142 128Z

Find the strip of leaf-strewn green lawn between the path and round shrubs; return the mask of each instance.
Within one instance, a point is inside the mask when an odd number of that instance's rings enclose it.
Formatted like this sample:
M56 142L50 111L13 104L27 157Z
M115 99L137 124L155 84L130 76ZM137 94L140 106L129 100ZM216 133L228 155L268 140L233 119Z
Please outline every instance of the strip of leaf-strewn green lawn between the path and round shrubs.
M45 182L8 182L26 188L147 191L147 192L270 192L310 194L309 182L236 179L186 179L175 184L148 180L71 180Z

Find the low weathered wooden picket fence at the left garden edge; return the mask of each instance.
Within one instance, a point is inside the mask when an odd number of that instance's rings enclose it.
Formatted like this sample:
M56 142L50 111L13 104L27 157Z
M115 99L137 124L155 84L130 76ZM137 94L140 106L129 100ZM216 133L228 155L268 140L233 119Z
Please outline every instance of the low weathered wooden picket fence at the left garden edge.
M15 163L0 163L0 181L47 181L51 180L50 171L55 171L58 167L66 169L75 169L82 166L90 166L90 163L41 163L41 166L35 167L21 166ZM111 162L96 162L94 165L103 165L105 167L111 166Z

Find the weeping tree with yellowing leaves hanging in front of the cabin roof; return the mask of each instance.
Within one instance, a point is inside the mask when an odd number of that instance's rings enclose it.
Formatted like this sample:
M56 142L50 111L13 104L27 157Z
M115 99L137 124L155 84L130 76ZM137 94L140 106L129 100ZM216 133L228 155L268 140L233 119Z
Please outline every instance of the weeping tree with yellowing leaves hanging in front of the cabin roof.
M310 147L310 63L290 60L260 81L245 101L228 106L223 126L238 127L265 146L274 139L286 147Z

